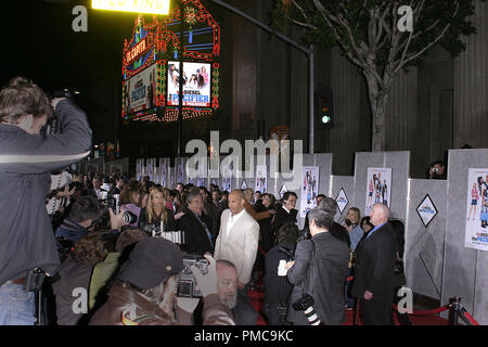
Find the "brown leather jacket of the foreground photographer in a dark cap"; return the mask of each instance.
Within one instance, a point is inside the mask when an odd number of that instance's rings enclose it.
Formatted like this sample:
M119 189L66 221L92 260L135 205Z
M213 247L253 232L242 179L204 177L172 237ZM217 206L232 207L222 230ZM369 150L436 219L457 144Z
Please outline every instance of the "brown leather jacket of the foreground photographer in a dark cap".
M147 301L130 287L114 285L108 300L93 314L90 325L188 325L191 314L178 311L179 320ZM217 294L204 300L203 325L235 325L231 311L220 303Z

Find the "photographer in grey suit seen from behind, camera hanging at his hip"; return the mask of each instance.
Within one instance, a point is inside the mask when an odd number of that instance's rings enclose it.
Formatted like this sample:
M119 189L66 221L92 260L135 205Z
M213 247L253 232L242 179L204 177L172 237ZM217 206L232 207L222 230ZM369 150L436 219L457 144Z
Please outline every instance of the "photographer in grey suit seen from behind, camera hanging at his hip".
M346 320L344 281L349 247L329 232L334 224L330 210L332 206L310 210L311 239L298 243L295 261L286 265L288 280L295 285L288 321L295 324L317 325L320 321L324 325L339 325Z

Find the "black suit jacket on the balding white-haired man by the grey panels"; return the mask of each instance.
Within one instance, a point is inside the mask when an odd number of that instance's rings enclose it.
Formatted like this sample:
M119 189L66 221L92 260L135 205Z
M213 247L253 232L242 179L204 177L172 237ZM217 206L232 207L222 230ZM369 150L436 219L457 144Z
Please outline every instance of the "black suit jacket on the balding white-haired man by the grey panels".
M373 293L373 297L393 297L397 250L398 242L389 223L358 244L352 296L361 298L364 292L369 291Z

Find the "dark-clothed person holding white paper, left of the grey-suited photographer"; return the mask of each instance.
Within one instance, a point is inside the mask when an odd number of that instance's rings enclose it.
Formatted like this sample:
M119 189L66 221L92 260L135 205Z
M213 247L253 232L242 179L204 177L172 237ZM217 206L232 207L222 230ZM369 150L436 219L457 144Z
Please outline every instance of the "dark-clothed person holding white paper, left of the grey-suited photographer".
M286 278L284 262L291 261L295 254L298 227L285 223L278 230L278 244L265 258L265 312L270 325L290 325L286 312L293 285Z

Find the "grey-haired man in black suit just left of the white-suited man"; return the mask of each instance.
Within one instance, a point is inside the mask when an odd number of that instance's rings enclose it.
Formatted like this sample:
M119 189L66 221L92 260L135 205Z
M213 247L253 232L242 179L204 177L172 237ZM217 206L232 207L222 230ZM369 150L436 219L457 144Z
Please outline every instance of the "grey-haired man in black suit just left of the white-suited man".
M211 219L203 213L203 197L198 188L193 188L187 196L188 207L178 220L178 229L184 231L183 250L192 254L214 254L215 240L211 235Z

